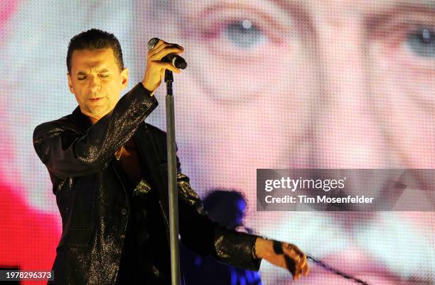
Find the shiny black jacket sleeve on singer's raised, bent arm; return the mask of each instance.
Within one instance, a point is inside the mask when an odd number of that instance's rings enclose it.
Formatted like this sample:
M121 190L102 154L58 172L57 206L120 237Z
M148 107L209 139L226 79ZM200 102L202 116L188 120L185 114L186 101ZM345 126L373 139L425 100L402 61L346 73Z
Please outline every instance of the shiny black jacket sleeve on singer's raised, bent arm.
M157 105L155 97L139 82L85 135L77 135L59 123L43 123L33 131L33 147L56 177L91 174L134 135L139 123Z

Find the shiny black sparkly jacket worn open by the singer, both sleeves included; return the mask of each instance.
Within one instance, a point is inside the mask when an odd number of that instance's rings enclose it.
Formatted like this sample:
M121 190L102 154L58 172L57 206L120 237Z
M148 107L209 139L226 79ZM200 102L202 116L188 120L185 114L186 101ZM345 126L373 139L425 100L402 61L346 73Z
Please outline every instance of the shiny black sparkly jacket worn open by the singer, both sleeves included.
M139 83L94 125L77 107L72 114L34 130L33 145L48 169L62 216L63 233L53 264L55 284L114 284L117 279L131 201L114 152L132 136L141 167L151 170L149 179L159 191L159 208L168 230L166 133L144 123L157 105ZM258 270L260 260L252 257L257 237L213 223L203 213L188 177L178 172L177 178L183 244L200 255ZM167 239L155 246L169 252ZM155 267L146 270L159 284L167 282L167 276L159 276Z

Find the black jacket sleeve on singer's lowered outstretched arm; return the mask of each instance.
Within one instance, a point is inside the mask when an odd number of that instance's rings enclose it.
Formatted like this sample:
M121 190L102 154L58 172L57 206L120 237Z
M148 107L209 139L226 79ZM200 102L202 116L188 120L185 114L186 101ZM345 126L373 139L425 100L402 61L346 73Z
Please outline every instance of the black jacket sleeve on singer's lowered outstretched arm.
M258 271L261 259L252 256L257 235L230 230L213 222L203 211L203 203L186 175L178 173L178 216L183 245L200 255L220 262Z

